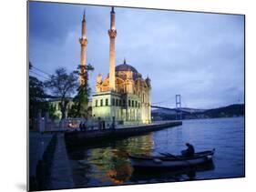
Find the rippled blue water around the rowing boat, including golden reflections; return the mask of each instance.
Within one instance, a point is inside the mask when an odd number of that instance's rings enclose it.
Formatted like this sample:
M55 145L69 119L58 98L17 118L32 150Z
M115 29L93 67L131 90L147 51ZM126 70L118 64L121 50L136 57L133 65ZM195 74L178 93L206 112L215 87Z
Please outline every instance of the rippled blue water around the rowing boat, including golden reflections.
M216 149L213 165L186 172L134 171L126 153L178 155L189 142L196 151ZM68 151L75 187L244 177L244 118L185 120L145 136L134 136L95 147Z

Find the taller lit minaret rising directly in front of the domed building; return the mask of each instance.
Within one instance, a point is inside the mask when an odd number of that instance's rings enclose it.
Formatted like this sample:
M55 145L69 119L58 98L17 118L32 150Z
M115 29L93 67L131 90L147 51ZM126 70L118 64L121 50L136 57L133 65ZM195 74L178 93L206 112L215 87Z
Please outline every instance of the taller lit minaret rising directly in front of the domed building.
M117 30L115 27L115 11L114 6L112 6L110 12L110 29L108 30L108 35L110 39L110 46L109 46L109 89L111 91L115 91L115 79L116 79L116 59L115 59L115 38L117 36Z

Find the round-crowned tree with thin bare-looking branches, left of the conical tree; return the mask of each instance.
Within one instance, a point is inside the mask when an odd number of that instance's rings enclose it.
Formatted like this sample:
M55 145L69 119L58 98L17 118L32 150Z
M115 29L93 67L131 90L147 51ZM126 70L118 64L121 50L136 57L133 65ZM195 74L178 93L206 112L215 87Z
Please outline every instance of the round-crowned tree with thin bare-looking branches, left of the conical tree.
M54 75L45 82L45 86L52 91L52 94L60 98L61 118L66 118L68 96L71 96L77 89L77 73L67 73L67 69L60 67Z

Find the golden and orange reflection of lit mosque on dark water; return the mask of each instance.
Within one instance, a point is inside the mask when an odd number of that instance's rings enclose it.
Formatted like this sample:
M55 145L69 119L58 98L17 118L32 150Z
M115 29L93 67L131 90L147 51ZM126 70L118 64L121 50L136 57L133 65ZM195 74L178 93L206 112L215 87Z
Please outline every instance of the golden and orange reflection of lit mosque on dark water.
M132 136L97 147L78 147L68 150L76 187L121 185L132 176L128 153L150 155L152 134ZM88 179L90 178L90 179Z

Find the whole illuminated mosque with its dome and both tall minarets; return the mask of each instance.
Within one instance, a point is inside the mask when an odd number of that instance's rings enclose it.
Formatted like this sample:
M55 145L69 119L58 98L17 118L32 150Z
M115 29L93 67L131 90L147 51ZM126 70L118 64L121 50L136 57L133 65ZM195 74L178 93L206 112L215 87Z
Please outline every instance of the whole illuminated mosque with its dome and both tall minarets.
M114 7L110 12L109 35L109 73L106 78L97 75L96 93L92 96L92 116L105 120L115 116L119 124L149 124L151 123L150 79L144 79L137 69L128 65L126 59L123 64L116 66L115 41L118 35L115 26ZM80 64L86 66L86 16L82 20L82 36ZM85 70L85 67L81 67ZM80 77L80 84L85 79Z

